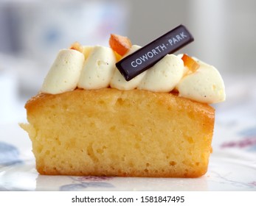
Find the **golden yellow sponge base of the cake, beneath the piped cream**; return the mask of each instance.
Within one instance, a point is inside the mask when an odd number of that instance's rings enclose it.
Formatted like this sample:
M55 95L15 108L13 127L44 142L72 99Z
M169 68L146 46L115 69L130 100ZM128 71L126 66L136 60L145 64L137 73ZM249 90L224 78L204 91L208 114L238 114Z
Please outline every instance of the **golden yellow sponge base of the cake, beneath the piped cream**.
M76 89L26 104L40 174L200 177L215 110L172 93Z

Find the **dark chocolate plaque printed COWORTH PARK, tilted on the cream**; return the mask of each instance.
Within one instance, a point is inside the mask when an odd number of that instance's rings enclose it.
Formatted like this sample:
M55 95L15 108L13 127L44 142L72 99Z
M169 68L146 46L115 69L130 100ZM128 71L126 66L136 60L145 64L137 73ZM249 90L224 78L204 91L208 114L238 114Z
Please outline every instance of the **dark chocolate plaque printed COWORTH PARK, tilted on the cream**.
M165 57L166 54L172 54L193 40L193 36L185 26L177 26L165 35L120 60L116 64L117 68L126 81L129 81L148 68L151 68L152 65L161 60L162 57Z

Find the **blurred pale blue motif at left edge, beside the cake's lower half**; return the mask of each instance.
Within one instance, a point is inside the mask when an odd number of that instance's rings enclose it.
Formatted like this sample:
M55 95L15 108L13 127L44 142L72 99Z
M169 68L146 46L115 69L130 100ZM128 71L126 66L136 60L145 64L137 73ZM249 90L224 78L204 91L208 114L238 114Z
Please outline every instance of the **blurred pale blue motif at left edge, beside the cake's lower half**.
M0 165L10 166L15 163L21 163L18 149L10 143L0 141Z

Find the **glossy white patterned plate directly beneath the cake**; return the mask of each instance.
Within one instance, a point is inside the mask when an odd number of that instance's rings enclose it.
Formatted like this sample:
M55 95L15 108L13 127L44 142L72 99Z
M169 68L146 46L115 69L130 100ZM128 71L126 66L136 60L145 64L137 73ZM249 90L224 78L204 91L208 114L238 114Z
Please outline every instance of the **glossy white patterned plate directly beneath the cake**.
M200 178L46 176L33 160L0 169L2 191L256 191L256 167L212 155Z

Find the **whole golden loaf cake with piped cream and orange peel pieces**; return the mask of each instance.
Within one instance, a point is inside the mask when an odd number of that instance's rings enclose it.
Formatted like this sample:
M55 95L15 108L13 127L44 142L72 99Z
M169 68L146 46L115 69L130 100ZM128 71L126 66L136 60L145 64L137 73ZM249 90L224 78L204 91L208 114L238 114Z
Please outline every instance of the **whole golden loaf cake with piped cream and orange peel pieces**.
M193 40L183 30L174 34L153 41L153 47L111 35L111 47L74 43L60 50L40 92L25 105L28 123L21 124L40 174L207 172L215 121L210 104L225 100L224 82L212 65L187 54L163 55ZM149 59L157 61L145 70Z

